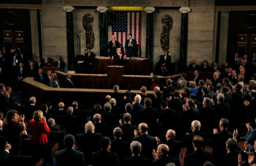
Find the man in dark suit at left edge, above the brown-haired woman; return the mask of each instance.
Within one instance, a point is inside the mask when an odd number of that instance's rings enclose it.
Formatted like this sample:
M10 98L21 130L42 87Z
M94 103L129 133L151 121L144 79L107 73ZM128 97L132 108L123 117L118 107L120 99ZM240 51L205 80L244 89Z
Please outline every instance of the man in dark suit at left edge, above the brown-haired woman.
M10 92L6 92L6 87L4 84L0 84L0 110L4 114L9 110L10 103Z

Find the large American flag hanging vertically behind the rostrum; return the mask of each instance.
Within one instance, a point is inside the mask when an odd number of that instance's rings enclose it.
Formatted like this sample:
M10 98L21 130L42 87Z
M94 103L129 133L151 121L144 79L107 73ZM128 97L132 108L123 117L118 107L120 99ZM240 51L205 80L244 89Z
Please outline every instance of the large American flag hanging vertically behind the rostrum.
M141 45L141 12L113 12L112 35L115 35L124 47L128 34L133 34L133 39Z

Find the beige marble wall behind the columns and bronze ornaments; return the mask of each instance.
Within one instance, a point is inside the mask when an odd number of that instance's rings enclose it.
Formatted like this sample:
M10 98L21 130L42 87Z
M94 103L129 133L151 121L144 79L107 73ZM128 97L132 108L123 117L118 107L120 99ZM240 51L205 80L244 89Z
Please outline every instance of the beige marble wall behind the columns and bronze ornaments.
M117 2L119 0L115 0ZM214 0L183 0L183 1L120 1L119 6L155 6L155 7L187 7L191 8L188 13L188 44L187 44L187 64L192 59L197 59L198 63L207 59L210 63L215 60L215 9ZM82 30L81 36L81 53L84 53L85 46L85 31L82 27L82 16L86 13L91 13L94 16L94 34L95 46L93 51L96 55L99 54L99 14L95 8L86 9L86 6L113 6L113 1L66 1L66 0L42 0L41 9L41 27L42 27L42 53L43 57L52 57L61 55L63 60L67 62L67 35L66 35L66 11L63 11L63 6L85 6L83 9L75 9L73 11L74 21L74 42L75 55L77 55L77 30ZM126 5L124 5L125 3ZM112 5L111 5L112 4ZM118 4L118 3L115 3ZM123 4L123 5L122 5ZM162 32L161 18L163 15L169 14L173 17L173 28L170 31L170 55L173 62L179 62L180 54L180 22L181 13L178 9L157 9L154 12L154 49L153 62L159 60L159 55L163 54L160 47L160 35ZM146 13L142 16L142 56L145 56L145 26ZM110 40L110 26L109 26ZM36 36L32 36L34 41ZM33 39L32 39L33 41ZM36 44L36 43L35 43ZM33 49L36 46L33 45Z

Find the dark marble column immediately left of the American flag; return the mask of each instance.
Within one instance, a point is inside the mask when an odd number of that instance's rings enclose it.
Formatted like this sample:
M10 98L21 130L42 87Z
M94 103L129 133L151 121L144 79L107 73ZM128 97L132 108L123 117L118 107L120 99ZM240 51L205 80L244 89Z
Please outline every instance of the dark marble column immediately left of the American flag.
M99 12L99 54L100 56L108 56L108 27L106 26L106 11L105 6L97 7Z

